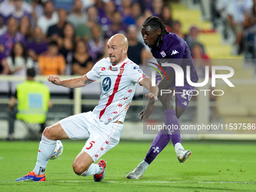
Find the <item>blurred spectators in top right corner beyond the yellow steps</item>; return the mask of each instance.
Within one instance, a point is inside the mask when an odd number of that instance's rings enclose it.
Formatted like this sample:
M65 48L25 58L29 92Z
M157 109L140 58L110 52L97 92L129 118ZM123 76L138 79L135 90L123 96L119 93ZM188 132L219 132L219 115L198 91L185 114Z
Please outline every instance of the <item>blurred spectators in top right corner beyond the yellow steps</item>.
M221 26L224 39L233 44L233 55L256 57L255 0L194 0L202 8L203 18L215 28Z

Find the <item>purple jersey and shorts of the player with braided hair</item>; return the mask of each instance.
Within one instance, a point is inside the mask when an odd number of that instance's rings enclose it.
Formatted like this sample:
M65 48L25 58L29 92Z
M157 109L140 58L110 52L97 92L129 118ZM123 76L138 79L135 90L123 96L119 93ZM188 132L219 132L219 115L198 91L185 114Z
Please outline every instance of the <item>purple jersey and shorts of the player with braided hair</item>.
M194 87L187 83L186 67L190 66L190 80L192 82L197 83L198 77L194 62L191 57L191 52L187 46L186 41L184 41L184 39L180 38L178 35L169 32L163 36L163 41L161 41L158 46L151 48L151 53L158 62L175 63L178 66L181 66L183 69L184 87L175 87L175 78L173 78L170 85L174 87L175 91L178 93L176 105L184 109L187 108L187 105L191 99L190 90L194 90ZM175 71L172 67L166 67L165 72L174 73ZM157 73L156 80L158 82L162 80L159 73ZM184 92L184 90L186 91Z

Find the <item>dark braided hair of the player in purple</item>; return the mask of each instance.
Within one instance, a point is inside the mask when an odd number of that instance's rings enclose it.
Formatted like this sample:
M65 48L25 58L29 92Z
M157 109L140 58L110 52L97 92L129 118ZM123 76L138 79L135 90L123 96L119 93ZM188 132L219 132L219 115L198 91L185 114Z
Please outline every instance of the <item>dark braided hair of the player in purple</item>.
M163 23L163 20L161 20L159 17L151 16L148 17L147 20L142 24L143 27L151 26L152 29L157 31L158 29L161 29L160 36L163 36L167 33L166 26Z

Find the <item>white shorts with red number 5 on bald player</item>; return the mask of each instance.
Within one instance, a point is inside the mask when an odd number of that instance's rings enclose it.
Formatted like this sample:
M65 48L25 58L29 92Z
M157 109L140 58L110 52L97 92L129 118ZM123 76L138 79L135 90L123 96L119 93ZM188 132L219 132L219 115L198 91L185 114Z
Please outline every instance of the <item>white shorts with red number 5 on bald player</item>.
M123 124L105 124L92 111L66 117L59 120L59 124L69 139L87 139L82 151L89 154L94 162L118 144L123 130Z

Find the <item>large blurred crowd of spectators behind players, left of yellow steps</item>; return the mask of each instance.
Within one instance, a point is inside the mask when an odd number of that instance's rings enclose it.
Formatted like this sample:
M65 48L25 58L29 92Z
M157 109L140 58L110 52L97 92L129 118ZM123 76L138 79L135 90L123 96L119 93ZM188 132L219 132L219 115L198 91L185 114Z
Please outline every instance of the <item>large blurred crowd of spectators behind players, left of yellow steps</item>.
M181 32L164 0L4 0L0 1L0 74L84 75L104 56L111 35L123 33L128 56L139 65L152 57L143 43L142 23L160 17L169 32L185 38L195 57L207 57L197 41L200 29ZM177 1L175 1L177 2ZM195 46L194 46L195 45Z

